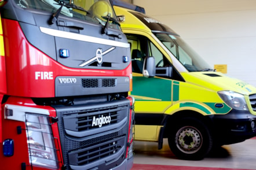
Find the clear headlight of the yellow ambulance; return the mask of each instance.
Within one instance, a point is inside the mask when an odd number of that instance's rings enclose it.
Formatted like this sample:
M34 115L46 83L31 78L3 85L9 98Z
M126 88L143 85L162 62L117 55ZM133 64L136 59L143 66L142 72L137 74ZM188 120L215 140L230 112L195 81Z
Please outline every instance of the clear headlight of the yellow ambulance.
M232 91L220 91L218 95L221 97L222 100L225 101L229 107L241 111L248 111L248 107L246 104L246 100L244 96L240 93L232 92Z

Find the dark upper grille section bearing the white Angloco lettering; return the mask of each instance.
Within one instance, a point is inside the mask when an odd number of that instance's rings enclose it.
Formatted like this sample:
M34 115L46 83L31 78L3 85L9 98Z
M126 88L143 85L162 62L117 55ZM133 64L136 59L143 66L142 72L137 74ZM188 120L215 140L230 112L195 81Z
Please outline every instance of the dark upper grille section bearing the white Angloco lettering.
M115 124L119 126L125 124L127 119L125 112L127 112L126 105L122 107L120 105L107 105L101 108L82 109L77 111L75 115L70 114L63 117L64 128L68 135L74 137L101 133L99 127L112 125L113 129L116 129ZM111 130L111 128L108 130Z

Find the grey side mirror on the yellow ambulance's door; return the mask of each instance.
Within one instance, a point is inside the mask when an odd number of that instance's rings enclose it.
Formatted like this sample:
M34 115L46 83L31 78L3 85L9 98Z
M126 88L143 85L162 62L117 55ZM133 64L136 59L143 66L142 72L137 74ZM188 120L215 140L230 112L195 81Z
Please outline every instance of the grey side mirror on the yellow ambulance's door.
M156 75L156 65L155 65L155 58L153 56L147 56L144 59L143 65L143 76L144 77L155 77Z

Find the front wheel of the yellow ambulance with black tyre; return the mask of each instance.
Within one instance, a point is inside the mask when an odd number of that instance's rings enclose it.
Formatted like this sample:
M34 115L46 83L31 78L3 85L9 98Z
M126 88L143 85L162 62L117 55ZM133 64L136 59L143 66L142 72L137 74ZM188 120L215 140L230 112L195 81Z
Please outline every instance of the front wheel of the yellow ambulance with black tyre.
M168 138L171 151L183 160L202 160L213 145L208 127L195 118L183 118L178 122Z

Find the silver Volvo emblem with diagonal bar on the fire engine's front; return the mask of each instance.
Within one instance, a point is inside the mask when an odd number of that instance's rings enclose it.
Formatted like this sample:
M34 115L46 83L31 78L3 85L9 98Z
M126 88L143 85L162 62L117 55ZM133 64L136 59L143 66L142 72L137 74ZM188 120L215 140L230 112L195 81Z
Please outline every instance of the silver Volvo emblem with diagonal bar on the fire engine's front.
M84 67L86 65L89 65L90 63L93 63L94 61L97 61L99 65L101 65L103 63L103 56L105 54L108 54L108 52L114 50L116 47L111 47L106 51L102 51L101 48L98 48L96 51L96 56L94 56L93 58L89 59L88 61L83 61L82 63L80 63L78 66L79 67Z

